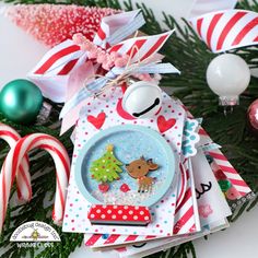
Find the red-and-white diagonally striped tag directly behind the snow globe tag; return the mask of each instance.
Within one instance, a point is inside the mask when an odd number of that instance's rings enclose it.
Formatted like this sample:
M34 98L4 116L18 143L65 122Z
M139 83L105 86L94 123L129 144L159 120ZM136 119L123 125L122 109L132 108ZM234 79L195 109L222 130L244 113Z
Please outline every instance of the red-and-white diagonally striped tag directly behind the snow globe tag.
M195 194L195 184L189 164L189 159L180 164L178 176L178 190L175 210L174 235L181 235L200 231L200 222L197 210L197 200ZM92 248L121 246L130 243L149 242L163 236L143 236L143 235L118 235L118 234L85 234L85 246Z

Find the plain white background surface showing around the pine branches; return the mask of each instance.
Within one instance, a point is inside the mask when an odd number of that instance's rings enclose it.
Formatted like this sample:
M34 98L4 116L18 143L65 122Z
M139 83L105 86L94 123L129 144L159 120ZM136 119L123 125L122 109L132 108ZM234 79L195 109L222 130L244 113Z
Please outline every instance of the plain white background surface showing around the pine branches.
M163 10L176 17L186 16L192 4L192 0L143 0L143 2L154 10L159 21L162 20ZM46 50L46 47L32 39L0 14L0 87L10 80L24 78ZM258 257L257 220L258 206L245 213L228 230L209 236L208 241L203 238L195 241L198 258ZM72 254L71 258L93 256L103 257L101 254L90 253L82 247ZM117 257L116 254L105 258L113 257Z

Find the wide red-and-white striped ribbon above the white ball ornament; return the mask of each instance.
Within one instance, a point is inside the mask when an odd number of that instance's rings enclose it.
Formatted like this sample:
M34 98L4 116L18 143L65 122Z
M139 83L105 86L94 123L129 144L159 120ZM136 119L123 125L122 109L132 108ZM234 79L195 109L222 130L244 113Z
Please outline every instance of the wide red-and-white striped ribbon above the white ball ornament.
M213 52L258 44L258 13L224 10L189 20L194 30Z

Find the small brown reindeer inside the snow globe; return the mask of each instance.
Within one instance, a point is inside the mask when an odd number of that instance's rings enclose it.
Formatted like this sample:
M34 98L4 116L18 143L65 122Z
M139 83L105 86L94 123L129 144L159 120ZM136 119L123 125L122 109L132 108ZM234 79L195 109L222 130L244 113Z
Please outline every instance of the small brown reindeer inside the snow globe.
M126 165L128 174L138 180L138 192L151 191L152 185L155 178L148 177L150 171L156 171L159 165L152 162L152 159L145 160L143 156L141 159L131 162Z

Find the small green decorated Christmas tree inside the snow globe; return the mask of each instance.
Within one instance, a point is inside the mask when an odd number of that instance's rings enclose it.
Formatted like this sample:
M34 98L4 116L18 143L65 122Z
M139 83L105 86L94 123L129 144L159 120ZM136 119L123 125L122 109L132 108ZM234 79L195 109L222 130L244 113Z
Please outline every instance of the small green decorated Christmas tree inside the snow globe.
M106 153L102 157L92 162L90 172L93 179L102 183L98 185L98 189L102 192L109 189L108 183L120 178L118 173L122 172L120 168L121 165L122 163L114 154L114 145L112 144L106 146Z

